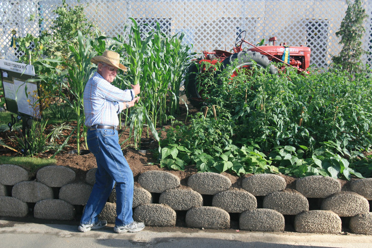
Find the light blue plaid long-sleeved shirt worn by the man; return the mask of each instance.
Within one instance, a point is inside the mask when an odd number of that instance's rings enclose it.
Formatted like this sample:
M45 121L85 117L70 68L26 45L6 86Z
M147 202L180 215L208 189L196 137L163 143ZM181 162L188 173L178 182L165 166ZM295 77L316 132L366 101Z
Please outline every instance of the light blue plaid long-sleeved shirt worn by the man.
M118 126L118 114L124 109L123 102L130 102L133 98L133 90L121 90L95 72L84 89L85 125Z

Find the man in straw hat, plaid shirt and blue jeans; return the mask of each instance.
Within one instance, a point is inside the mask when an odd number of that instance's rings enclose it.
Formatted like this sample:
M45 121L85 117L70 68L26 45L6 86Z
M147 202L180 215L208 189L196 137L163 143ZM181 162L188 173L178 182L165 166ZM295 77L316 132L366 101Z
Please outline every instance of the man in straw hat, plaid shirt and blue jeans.
M116 182L117 217L114 231L117 233L139 232L145 225L132 218L133 173L126 162L119 144L117 126L118 114L134 106L139 97L139 85L121 90L111 83L117 70L126 71L120 63L120 55L106 51L94 57L97 71L88 80L84 89L85 125L88 127L87 143L97 161L96 183L80 220L78 230L88 232L103 228L106 220L98 220L98 215L106 204Z

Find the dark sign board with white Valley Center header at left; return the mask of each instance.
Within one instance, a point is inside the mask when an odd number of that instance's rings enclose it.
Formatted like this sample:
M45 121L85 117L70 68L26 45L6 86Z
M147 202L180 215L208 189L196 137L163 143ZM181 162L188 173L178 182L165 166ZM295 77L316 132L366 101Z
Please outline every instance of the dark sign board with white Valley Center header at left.
M28 81L35 76L34 66L0 60L0 72L6 109L21 116L40 119L38 85Z

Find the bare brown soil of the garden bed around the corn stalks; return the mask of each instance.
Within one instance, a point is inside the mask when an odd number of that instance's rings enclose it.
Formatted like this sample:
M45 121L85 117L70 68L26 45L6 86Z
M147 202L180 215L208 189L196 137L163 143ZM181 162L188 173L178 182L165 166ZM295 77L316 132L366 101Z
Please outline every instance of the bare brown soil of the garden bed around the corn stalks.
M186 108L180 108L181 113L176 118L177 120L181 122L185 122L186 120ZM189 109L188 114L192 115L196 113L197 109ZM188 117L189 119L189 117ZM76 123L70 123L72 127L76 126ZM161 136L166 136L166 132L162 131L163 128L167 128L169 125L164 125L162 127L158 127L158 131L161 131ZM47 129L51 128L51 126L48 126ZM69 131L65 131L64 136L68 136ZM20 136L21 133L12 130L12 131L4 131L0 132L0 140L2 140L5 144L18 149L16 147L16 143L11 141L11 137ZM167 171L170 172L176 176L178 176L181 179L181 184L185 185L187 184L187 178L196 173L196 169L193 166L187 166L185 171L174 171L174 170L168 170L167 168L160 168L158 164L158 159L156 155L156 151L158 150L158 142L153 139L153 136L150 132L149 137L147 135L147 130L144 130L142 132L142 145L141 149L146 148L146 153L143 154L138 150L135 150L132 146L133 141L126 141L125 139L129 136L129 128L127 126L122 126L122 129L119 130L119 141L123 143L123 154L125 156L125 159L127 160L134 176L134 180L136 181L138 176L145 172L145 171L154 171L154 170L161 170L161 171ZM58 142L62 144L65 141L64 138L61 138ZM146 147L144 147L146 146ZM97 167L96 159L92 153L89 152L89 150L86 150L87 148L84 147L84 140L80 139L80 155L76 154L76 139L70 138L68 141L68 146L66 146L62 152L60 152L58 155L56 155L55 159L57 160L56 164L60 166L68 166L72 170L76 172L76 179L78 181L84 181L85 174L88 170ZM52 151L45 152L43 154L36 155L36 157L40 158L49 158L54 154ZM20 152L14 152L10 149L0 147L0 156L22 156ZM228 173L224 173L225 176L229 177L233 184L236 186L239 184L239 177L238 176L232 176Z

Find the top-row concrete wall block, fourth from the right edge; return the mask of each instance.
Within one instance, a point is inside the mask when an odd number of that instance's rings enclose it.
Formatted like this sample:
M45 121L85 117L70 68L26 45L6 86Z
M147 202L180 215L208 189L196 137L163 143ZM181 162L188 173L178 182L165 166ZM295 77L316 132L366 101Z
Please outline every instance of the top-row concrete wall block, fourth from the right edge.
M200 194L217 194L231 187L229 178L212 172L196 173L187 180L187 186Z

